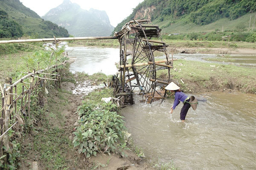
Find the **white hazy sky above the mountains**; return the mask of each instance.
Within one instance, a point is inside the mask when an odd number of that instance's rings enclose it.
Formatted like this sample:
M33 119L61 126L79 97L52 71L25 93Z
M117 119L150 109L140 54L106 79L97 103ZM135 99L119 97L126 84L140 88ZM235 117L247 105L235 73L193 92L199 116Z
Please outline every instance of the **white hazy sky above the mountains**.
M90 8L107 12L110 23L116 27L125 17L132 13L135 8L143 0L70 0L77 3L82 9ZM20 0L24 6L35 11L38 15L43 16L50 9L59 6L63 0Z

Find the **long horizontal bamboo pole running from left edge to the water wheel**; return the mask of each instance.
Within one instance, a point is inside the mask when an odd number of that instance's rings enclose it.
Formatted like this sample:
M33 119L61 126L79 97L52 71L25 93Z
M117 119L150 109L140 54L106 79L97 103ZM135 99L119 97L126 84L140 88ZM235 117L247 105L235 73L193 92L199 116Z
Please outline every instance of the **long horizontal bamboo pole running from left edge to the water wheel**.
M108 37L61 37L56 38L57 41L71 41L71 40L111 40L111 39L118 39L115 36L108 36ZM31 43L31 42L47 42L47 41L55 41L54 38L42 38L42 39L27 39L27 40L2 40L0 44L6 43Z

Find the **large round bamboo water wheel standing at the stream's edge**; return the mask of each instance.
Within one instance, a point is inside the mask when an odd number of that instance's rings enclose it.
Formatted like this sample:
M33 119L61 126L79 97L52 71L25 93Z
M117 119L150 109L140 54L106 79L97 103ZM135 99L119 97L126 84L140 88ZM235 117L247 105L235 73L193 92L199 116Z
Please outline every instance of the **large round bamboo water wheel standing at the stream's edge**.
M120 43L122 93L133 93L137 88L143 97L150 98L150 102L154 98L165 98L157 91L157 86L169 84L172 61L168 58L167 45L160 32L161 29L150 20L140 19L126 23L120 32L115 33ZM156 51L162 52L166 59L156 61ZM157 76L157 70L160 69L168 69L168 79L161 80Z

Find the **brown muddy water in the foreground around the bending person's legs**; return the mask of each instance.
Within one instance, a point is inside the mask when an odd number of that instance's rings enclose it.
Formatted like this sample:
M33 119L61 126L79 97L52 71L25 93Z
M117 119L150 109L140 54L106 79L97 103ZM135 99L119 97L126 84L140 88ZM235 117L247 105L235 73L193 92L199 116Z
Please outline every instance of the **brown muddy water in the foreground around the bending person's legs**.
M122 109L126 127L146 156L174 161L181 170L256 169L256 95L213 92L197 110L189 109L186 123L180 109L172 115L173 99Z

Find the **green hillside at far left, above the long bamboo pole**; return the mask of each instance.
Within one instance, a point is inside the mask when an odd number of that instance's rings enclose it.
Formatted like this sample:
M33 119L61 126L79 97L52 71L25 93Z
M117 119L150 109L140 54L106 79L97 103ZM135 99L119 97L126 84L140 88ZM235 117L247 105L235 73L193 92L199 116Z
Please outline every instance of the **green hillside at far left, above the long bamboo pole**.
M66 29L44 21L31 9L23 6L20 0L0 0L0 37L33 38L68 37Z

